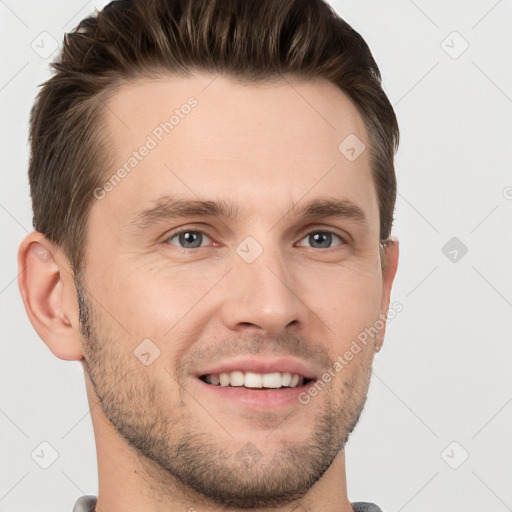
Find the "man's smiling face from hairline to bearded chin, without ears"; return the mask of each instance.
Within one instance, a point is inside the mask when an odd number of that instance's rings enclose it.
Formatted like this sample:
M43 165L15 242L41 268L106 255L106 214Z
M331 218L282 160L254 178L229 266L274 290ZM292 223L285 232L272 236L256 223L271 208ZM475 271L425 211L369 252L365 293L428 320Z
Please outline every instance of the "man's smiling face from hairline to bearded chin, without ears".
M330 83L212 80L133 82L108 104L83 362L148 474L278 506L328 470L366 399L375 340L339 361L389 294L369 152L338 146L369 142Z

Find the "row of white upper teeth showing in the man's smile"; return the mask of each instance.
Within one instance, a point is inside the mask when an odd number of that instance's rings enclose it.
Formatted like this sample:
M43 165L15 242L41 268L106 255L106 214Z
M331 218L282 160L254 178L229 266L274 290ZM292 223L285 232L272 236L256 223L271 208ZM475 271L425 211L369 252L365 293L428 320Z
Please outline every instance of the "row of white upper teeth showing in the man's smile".
M245 386L246 388L295 388L304 384L304 377L297 373L254 373L238 370L230 373L212 373L206 375L205 380L208 384L213 384L214 386Z

